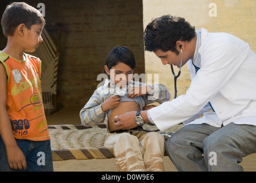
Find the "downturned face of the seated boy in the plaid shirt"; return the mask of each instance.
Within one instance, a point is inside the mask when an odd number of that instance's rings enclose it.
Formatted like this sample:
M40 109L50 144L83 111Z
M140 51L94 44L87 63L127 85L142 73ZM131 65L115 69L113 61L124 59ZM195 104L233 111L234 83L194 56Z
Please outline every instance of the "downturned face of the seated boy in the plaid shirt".
M123 62L117 63L117 65L111 67L110 70L105 66L105 71L110 75L110 78L115 82L115 85L119 87L126 86L133 76L133 69Z

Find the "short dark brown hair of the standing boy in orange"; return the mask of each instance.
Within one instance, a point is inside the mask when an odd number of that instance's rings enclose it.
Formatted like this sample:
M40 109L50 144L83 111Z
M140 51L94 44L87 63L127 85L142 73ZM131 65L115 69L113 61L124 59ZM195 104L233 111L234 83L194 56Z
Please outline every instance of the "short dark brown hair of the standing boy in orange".
M30 30L31 25L37 23L42 23L45 26L45 19L40 11L25 2L14 2L7 5L1 21L5 37L13 36L16 27L21 23L24 23Z

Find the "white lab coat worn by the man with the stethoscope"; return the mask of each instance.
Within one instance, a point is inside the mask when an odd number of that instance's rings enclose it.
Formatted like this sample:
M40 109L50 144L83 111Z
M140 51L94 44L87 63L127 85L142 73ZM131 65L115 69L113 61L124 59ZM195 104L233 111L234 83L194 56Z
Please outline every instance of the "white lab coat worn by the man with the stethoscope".
M202 45L193 63L199 71L195 74L191 60L187 62L191 85L186 95L149 110L151 120L164 130L205 112L210 101L215 113L204 113L189 124L256 125L256 54L234 35L198 31Z

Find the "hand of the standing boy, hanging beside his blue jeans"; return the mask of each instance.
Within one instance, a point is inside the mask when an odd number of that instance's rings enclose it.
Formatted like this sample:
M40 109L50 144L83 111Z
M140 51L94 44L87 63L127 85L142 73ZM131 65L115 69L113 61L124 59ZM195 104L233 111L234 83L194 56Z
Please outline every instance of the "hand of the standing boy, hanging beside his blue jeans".
M7 159L11 169L27 169L26 158L18 146L6 148Z

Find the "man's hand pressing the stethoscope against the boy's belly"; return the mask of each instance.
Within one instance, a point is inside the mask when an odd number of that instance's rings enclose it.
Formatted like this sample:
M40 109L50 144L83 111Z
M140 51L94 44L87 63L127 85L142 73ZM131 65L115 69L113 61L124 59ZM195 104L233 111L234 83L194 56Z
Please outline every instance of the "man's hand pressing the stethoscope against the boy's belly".
M138 126L135 122L136 111L121 114L113 119L114 125L122 130L129 130Z

